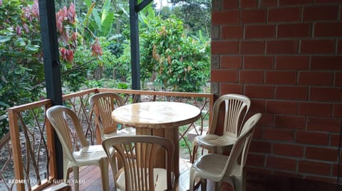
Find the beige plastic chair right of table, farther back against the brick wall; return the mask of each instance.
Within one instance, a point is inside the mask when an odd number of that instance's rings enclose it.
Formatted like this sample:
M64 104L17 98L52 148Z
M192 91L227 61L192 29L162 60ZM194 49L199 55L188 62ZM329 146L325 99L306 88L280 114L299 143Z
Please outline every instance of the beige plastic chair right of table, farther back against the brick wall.
M220 110L224 107L224 116ZM205 148L211 153L222 154L230 151L239 136L243 121L249 111L251 100L241 94L224 94L214 102L212 120L207 134L196 136L192 143L192 163L197 158L197 148ZM215 134L218 120L223 121L223 134Z

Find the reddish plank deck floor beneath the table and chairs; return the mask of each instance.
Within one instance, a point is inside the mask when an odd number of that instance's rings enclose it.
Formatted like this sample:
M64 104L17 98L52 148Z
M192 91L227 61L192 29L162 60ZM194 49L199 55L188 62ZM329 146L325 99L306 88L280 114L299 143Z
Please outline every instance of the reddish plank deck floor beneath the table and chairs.
M191 163L188 160L180 159L180 178L176 190L184 191L189 189L189 169ZM110 190L115 190L113 175L109 172ZM97 191L101 190L100 169L96 166L87 166L80 169L80 190ZM71 173L72 180L72 173ZM74 190L71 184L72 190ZM200 187L197 191L200 191ZM208 182L207 190L212 191L213 182ZM233 191L228 184L223 184L224 191ZM277 176L261 175L258 173L247 173L247 191L339 191L342 185L335 185L314 180L303 180L298 178L284 178Z

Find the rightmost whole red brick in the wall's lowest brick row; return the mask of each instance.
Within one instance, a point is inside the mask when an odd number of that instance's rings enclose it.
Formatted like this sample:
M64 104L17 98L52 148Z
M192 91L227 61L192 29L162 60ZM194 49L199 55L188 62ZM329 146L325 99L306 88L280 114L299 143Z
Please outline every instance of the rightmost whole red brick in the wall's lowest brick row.
M298 163L298 170L300 173L311 173L311 174L316 174L316 175L330 175L331 164L301 160Z

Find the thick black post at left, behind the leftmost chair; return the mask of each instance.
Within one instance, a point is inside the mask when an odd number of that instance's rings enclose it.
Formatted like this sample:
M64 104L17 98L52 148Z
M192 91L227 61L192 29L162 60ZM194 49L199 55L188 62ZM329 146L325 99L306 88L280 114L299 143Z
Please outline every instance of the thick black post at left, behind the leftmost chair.
M63 104L61 87L61 69L59 66L58 40L56 29L55 1L39 0L39 16L41 20L41 41L43 50L44 72L46 81L46 94L52 100L53 105ZM55 156L57 177L63 178L63 151L61 142L58 140L56 132Z

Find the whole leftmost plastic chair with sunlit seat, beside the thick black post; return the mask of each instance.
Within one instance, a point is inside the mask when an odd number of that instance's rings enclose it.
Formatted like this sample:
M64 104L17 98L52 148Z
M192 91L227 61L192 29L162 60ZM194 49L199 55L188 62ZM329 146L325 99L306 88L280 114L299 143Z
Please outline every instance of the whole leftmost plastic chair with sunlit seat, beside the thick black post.
M109 190L108 184L108 158L101 145L90 146L84 136L82 126L76 114L67 107L54 106L46 111L46 116L55 129L63 148L63 180L68 182L69 168L73 168L75 190L79 190L79 167L98 165L101 170L103 190ZM73 146L71 127L81 143L80 151ZM76 140L75 140L76 141Z

